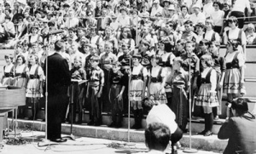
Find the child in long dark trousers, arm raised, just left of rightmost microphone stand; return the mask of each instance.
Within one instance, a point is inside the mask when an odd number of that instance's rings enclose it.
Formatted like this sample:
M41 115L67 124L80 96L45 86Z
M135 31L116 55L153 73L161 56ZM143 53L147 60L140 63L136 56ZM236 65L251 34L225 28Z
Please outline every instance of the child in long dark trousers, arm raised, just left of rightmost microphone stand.
M180 57L173 60L173 71L167 77L166 83L172 85L171 109L176 115L177 125L185 131L187 126L189 73L183 70L183 60Z

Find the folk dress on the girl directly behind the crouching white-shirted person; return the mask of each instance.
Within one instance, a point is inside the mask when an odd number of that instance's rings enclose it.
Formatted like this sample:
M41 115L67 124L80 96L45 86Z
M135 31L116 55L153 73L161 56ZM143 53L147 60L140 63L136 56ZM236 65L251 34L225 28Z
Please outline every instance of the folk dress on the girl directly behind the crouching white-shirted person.
M154 101L154 104L166 104L166 93L160 93L158 97L156 94L161 90L162 78L166 77L166 70L161 66L154 66L150 69L149 75L149 100Z

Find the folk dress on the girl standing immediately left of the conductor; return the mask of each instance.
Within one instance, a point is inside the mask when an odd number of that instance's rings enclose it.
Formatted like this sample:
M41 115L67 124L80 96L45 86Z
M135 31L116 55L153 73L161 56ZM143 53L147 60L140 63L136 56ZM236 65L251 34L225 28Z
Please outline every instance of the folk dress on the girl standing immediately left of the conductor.
M29 68L28 83L26 85L26 97L28 98L41 98L43 97L43 90L40 82L43 81L44 71L41 66L35 64Z

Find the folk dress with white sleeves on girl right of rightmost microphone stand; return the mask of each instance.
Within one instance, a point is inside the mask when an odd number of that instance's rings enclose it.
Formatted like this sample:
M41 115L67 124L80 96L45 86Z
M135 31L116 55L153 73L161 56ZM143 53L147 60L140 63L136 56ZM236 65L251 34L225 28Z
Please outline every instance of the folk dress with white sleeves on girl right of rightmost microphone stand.
M212 107L219 106L216 92L217 72L212 67L207 67L201 72L199 80L201 80L201 86L195 99L195 105L202 106L207 114L212 113ZM211 93L214 93L214 100L212 101L210 99Z

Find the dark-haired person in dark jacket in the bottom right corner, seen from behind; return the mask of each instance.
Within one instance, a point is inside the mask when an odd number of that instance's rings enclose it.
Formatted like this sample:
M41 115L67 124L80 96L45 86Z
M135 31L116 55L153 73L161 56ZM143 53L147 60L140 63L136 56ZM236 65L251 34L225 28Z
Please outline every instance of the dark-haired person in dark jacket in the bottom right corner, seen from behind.
M247 99L238 98L230 104L234 117L219 129L218 139L229 139L224 154L256 153L256 119L248 112Z

